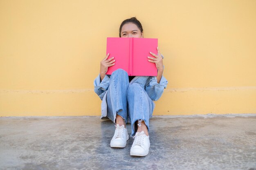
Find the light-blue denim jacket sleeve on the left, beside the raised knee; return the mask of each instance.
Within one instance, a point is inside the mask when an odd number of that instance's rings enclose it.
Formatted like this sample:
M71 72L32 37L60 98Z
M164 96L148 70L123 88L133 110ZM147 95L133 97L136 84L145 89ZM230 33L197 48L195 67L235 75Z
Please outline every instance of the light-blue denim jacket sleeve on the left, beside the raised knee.
M94 91L101 98L101 100L103 99L105 93L108 91L109 80L110 78L108 77L108 75L106 75L102 81L100 75L98 75L96 79L94 79Z

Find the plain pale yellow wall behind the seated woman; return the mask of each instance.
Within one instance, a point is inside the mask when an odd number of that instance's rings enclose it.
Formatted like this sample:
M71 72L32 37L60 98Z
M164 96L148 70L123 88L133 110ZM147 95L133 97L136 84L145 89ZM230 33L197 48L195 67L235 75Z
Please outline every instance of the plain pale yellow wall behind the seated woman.
M0 0L0 116L100 115L106 38L132 16L165 57L154 115L256 113L255 0Z

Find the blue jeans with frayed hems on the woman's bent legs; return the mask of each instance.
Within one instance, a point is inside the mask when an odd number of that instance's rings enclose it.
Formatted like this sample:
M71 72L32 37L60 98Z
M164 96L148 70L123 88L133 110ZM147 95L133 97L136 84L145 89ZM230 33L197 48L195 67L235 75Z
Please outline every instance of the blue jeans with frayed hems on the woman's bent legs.
M149 119L152 117L154 103L148 97L144 87L139 83L129 83L128 74L117 69L110 76L107 99L107 117L115 123L120 115L125 123L131 123L132 134L135 135L135 121L145 122L149 132Z

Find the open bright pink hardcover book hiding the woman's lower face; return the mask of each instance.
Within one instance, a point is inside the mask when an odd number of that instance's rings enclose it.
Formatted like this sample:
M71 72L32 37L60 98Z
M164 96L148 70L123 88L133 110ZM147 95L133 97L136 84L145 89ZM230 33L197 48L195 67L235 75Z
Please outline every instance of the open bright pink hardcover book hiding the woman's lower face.
M156 38L107 38L108 59L115 57L115 65L108 68L111 75L118 68L128 75L157 76L155 63L148 62L149 52L157 54Z

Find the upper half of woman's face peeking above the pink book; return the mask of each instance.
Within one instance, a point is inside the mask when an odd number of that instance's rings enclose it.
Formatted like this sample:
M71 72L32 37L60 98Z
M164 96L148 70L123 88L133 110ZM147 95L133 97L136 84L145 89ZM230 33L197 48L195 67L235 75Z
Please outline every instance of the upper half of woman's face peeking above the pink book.
M131 22L124 24L121 29L121 37L123 38L143 38L143 33L136 24Z

